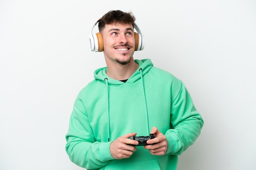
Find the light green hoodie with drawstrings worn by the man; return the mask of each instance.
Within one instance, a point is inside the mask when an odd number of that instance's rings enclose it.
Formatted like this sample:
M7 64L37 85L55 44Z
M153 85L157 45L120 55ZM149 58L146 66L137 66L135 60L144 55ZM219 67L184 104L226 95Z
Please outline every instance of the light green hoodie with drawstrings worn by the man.
M107 68L76 98L66 135L70 160L87 169L175 170L178 156L200 135L204 124L186 87L150 59L135 60L138 70L126 83L107 76ZM114 159L110 143L136 132L148 136L155 126L168 141L166 155L154 156L137 146L130 158ZM110 142L109 142L110 140Z

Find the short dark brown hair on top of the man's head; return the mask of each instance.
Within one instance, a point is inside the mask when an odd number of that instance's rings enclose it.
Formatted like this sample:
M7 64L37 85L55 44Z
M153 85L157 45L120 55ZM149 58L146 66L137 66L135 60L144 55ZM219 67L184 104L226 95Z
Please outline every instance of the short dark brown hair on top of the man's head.
M106 24L132 24L134 26L136 18L132 12L109 11L99 20L99 32L101 32Z

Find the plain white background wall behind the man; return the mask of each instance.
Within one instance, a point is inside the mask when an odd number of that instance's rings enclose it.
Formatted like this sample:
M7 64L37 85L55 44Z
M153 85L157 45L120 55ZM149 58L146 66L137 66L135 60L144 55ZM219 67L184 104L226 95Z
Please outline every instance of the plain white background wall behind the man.
M0 170L83 169L65 134L76 95L106 65L89 49L92 25L116 9L144 34L134 58L180 78L204 118L178 170L255 170L255 0L0 0Z

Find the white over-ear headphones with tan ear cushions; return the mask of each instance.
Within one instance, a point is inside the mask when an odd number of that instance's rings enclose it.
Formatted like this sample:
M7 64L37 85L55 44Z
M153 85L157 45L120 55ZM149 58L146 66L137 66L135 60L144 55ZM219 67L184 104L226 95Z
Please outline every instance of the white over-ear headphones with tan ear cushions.
M95 24L92 26L92 30L100 22L100 20L101 19L99 19L97 22L95 22ZM139 29L139 27L137 26L136 23L134 23L134 28L137 31L137 33L134 33L135 51L143 50L143 48L144 48L143 35L141 34L141 31L140 31L140 29ZM89 40L90 40L90 45L91 45L91 51L102 52L104 50L103 38L102 38L101 33L93 34L92 31L91 31L91 35L90 35Z

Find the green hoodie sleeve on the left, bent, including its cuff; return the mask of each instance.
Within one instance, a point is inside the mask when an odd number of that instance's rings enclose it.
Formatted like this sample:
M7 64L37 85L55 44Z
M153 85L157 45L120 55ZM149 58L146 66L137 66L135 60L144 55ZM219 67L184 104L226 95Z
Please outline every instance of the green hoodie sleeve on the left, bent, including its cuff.
M66 152L72 162L87 169L101 168L114 159L111 142L96 142L93 134L82 101L76 100L66 135Z

